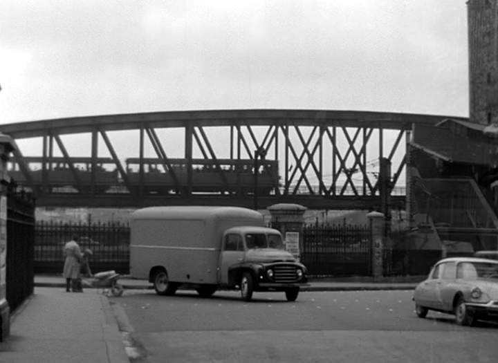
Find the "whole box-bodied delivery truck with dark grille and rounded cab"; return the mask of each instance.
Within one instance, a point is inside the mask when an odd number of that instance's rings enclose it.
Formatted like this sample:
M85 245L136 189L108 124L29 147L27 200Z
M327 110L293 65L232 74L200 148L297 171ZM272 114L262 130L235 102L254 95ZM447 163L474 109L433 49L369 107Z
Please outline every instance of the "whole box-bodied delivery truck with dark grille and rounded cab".
M159 295L191 286L201 296L238 288L284 291L294 301L306 268L286 252L278 230L241 207L149 207L131 214L130 273L149 279Z

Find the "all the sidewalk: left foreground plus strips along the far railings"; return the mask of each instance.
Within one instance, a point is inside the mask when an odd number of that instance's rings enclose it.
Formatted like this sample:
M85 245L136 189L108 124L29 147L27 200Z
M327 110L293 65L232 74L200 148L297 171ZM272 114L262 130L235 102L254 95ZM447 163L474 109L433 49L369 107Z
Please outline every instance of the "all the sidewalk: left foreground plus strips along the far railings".
M302 291L412 290L423 277L313 279ZM122 277L127 289L149 289L145 280ZM129 355L130 354L130 355ZM0 362L133 362L127 339L102 288L66 292L59 275L35 276L35 292L10 318L10 336L0 342Z

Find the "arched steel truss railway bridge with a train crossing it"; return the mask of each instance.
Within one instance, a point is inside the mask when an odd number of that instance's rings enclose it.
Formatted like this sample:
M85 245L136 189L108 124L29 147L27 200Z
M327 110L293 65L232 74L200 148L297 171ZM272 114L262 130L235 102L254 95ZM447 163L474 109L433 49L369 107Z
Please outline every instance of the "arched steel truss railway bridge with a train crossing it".
M446 118L172 111L19 122L0 131L18 145L10 176L35 194L39 206L299 203L359 210L378 208L389 195L391 203L405 203L409 135L416 125Z

